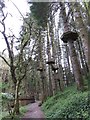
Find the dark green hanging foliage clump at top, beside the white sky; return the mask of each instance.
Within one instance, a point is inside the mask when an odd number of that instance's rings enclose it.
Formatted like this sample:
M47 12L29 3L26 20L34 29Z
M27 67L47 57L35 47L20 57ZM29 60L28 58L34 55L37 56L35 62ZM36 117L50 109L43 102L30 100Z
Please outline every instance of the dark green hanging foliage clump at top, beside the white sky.
M42 28L45 28L50 13L50 3L34 2L32 3L30 10L33 14L33 17L36 19L37 24Z

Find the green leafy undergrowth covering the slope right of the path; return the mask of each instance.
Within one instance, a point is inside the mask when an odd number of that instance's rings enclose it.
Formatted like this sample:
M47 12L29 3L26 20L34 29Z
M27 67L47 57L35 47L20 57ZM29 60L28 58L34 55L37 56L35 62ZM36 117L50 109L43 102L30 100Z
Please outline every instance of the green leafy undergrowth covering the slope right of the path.
M77 91L75 85L67 87L64 92L58 92L42 105L46 118L85 118L88 115L88 91ZM51 120L51 119L50 119Z

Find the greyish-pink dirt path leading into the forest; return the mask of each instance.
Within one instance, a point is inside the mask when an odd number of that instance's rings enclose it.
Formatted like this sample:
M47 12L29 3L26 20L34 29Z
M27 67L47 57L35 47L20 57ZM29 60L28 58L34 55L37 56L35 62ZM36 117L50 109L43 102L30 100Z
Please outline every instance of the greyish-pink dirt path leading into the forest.
M38 102L32 103L31 105L28 106L28 112L24 115L22 120L26 120L27 118L32 118L33 120L35 118L44 118L45 116L44 113L42 112L41 108L38 106Z

